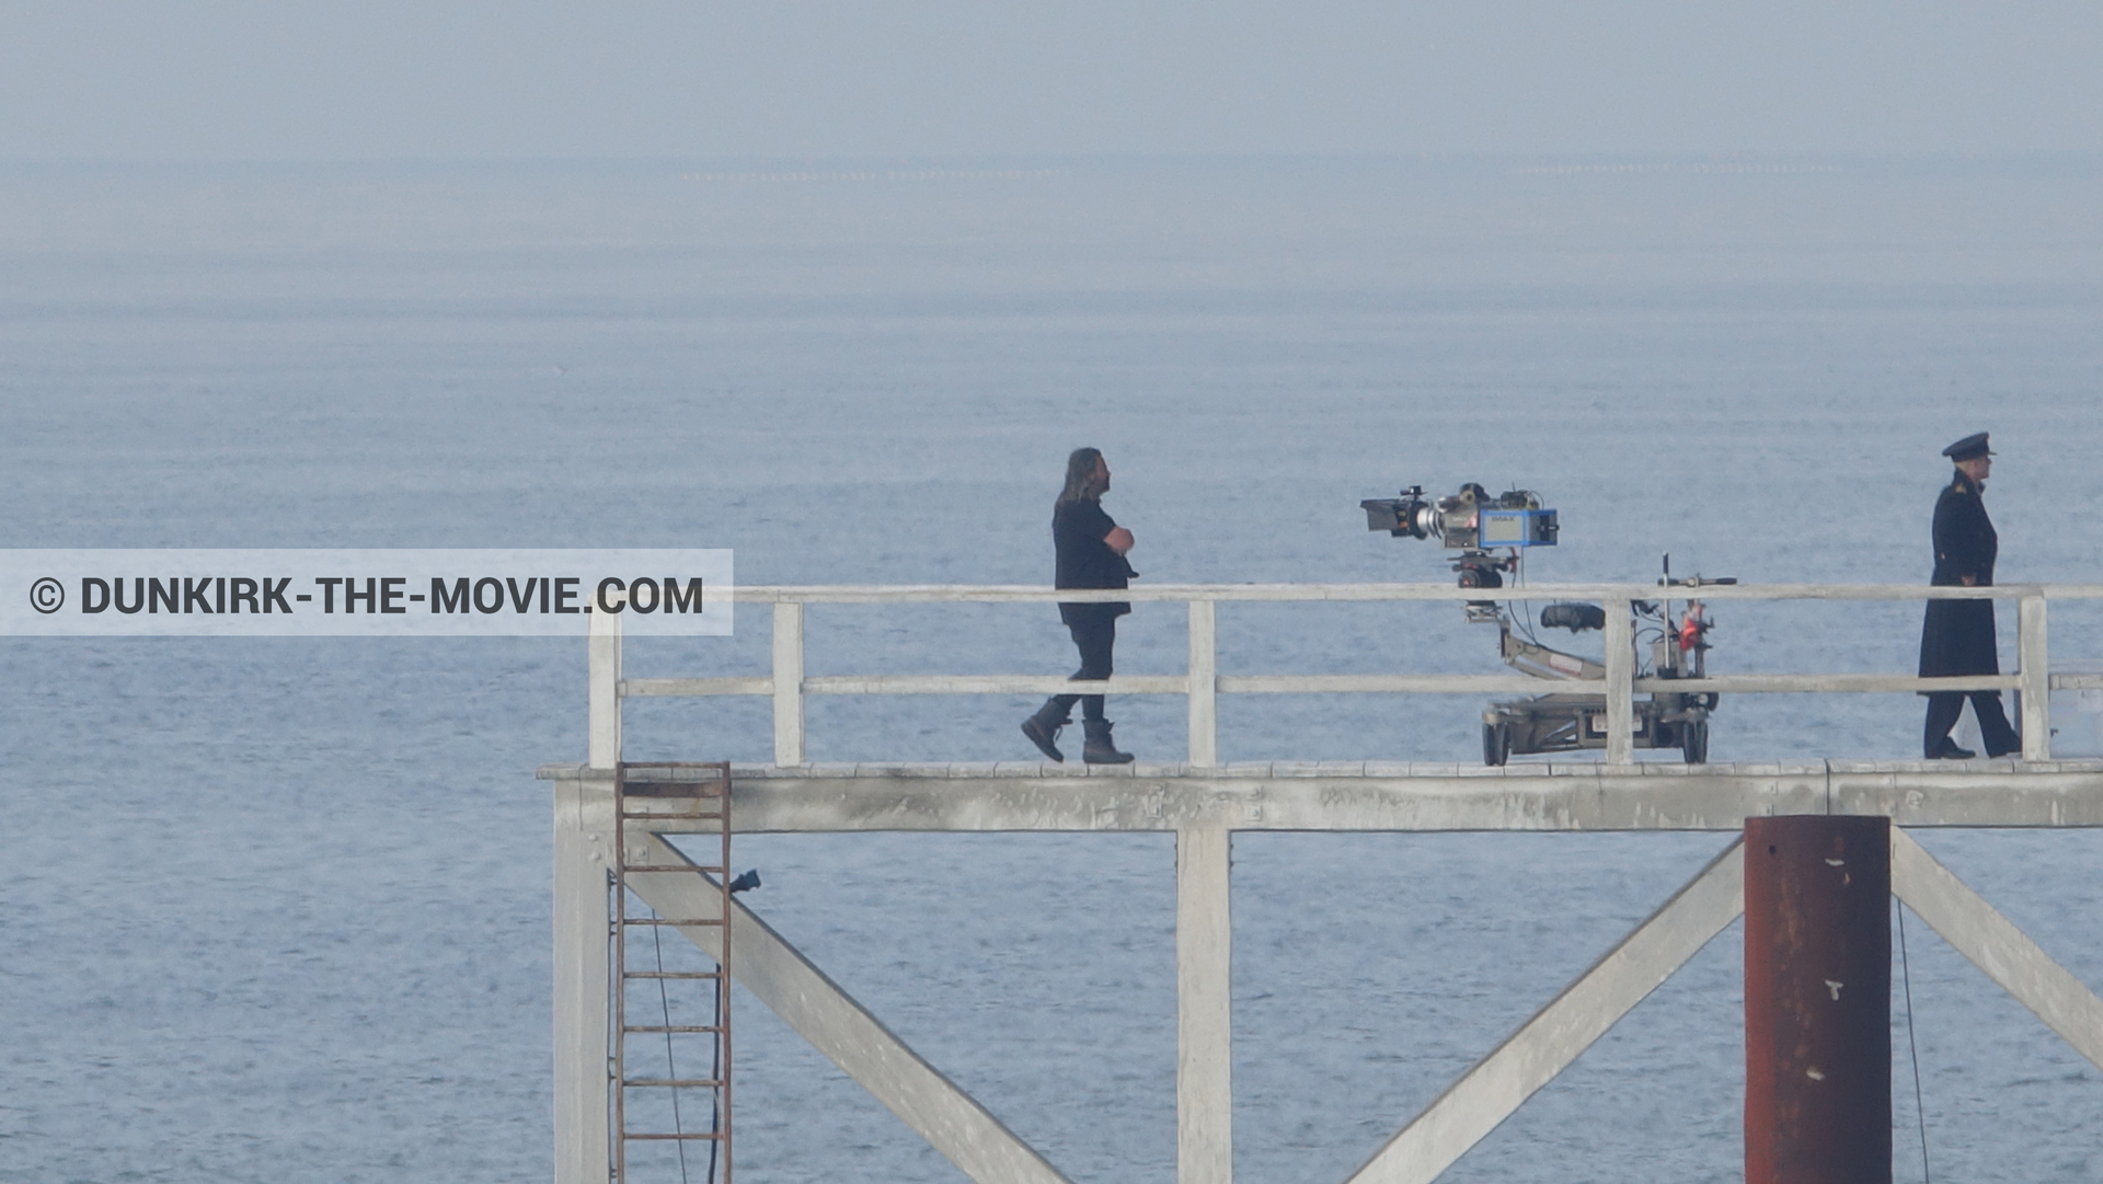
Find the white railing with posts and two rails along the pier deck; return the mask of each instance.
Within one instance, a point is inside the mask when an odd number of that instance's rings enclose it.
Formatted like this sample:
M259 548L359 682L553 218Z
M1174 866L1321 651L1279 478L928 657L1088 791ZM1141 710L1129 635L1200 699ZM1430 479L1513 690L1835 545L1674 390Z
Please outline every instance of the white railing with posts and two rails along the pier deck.
M593 763L618 753L620 700L654 696L768 696L774 700L774 763L801 765L803 700L812 694L1182 694L1190 700L1190 763L1216 765L1222 694L1539 694L1550 683L1527 675L1262 675L1218 669L1220 601L1596 601L1607 610L1607 679L1590 683L1607 696L1607 763L1634 761L1634 696L1642 692L2023 692L2023 759L2050 759L2048 705L2053 690L2097 690L2103 675L2050 675L2046 606L2053 599L2103 599L2103 585L2002 585L1989 589L1926 585L1529 585L1457 589L1453 585L1150 585L1119 591L1012 585L871 585L871 587L740 587L738 604L774 606L774 669L768 677L622 679L620 618L593 616ZM1703 679L1636 677L1630 604L1655 599L2013 599L2017 601L2017 673L1922 679L1880 673L1712 675ZM1190 614L1190 660L1182 675L1115 675L1068 681L1060 675L805 675L805 606L824 604L1014 604L1014 601L1182 601ZM606 744L604 749L599 744ZM610 763L610 759L606 761Z

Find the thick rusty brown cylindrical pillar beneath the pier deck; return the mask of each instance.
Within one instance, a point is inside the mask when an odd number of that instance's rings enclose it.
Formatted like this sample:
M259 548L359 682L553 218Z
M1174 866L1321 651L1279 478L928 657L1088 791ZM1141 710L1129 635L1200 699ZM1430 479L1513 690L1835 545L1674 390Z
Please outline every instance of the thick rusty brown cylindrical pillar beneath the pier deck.
M1891 1182L1891 820L1745 820L1745 1184Z

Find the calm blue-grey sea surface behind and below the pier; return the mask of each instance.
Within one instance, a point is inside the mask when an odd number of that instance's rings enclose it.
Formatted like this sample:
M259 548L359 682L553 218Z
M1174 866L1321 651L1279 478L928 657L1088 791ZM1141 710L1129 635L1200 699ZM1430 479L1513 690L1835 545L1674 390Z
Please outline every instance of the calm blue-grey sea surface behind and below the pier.
M1043 583L1064 454L1148 580L1443 580L1359 498L1541 490L1535 580L1924 580L1989 429L2013 580L2103 576L2103 162L1028 160L0 172L6 547L734 547ZM1918 606L1720 604L1714 669L1905 671ZM2002 612L2013 656L2013 612ZM2103 610L2053 608L2103 658ZM1594 641L1596 644L1596 641ZM1581 641L1579 641L1581 646ZM1119 669L1180 671L1178 608ZM734 639L631 675L757 673ZM1453 606L1226 606L1228 673L1495 671ZM1041 606L818 608L814 673L1064 673ZM549 793L583 644L0 641L0 1180L549 1173ZM812 759L1026 759L1020 698L824 698ZM1224 759L1476 755L1478 702L1249 696ZM1117 702L1182 757L1182 702ZM768 759L759 700L633 759ZM1912 696L1712 759L1910 757ZM2103 984L2088 833L1928 848ZM1243 835L1237 1173L1342 1180L1724 835ZM747 900L1077 1182L1173 1178L1152 835L751 837ZM1928 1167L2103 1178L2103 1077L1910 919ZM1733 927L1449 1180L1739 1178ZM1899 982L1899 976L1895 976ZM961 1180L757 1001L738 1171ZM1895 1007L1899 1178L1922 1173ZM673 1176L675 1178L675 1176Z

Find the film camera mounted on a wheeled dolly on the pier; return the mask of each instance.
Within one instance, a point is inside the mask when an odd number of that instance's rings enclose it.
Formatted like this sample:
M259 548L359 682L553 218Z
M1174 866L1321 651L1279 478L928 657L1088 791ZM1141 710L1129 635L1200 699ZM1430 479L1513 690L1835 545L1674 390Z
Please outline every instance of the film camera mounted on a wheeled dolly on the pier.
M1438 538L1453 557L1453 572L1464 589L1502 589L1504 576L1514 583L1523 574L1525 553L1531 547L1554 547L1558 534L1556 511L1541 505L1541 496L1531 490L1506 490L1491 496L1483 486L1466 484L1457 494L1426 498L1424 486L1403 490L1398 498L1369 498L1359 503L1365 509L1367 530L1386 530L1401 538ZM1497 555L1493 549L1504 549ZM1672 578L1672 555L1666 555L1659 587L1735 585L1735 578L1706 580ZM1634 616L1632 644L1638 646L1638 677L1680 679L1703 677L1708 671L1708 631L1714 622L1703 616L1699 599L1685 599L1685 608L1674 616L1670 595L1657 601L1630 604ZM1472 599L1466 616L1476 625L1497 625L1497 652L1504 665L1518 673L1550 681L1605 681L1607 667L1577 654L1565 654L1541 646L1533 637L1531 622L1516 610L1493 601ZM1596 604L1560 601L1541 608L1544 629L1605 629L1607 610ZM1642 660L1640 644L1649 641L1649 660ZM1638 749L1678 749L1680 757L1699 765L1708 761L1708 717L1716 709L1716 694L1674 694L1657 692L1634 702L1634 734ZM1607 747L1607 696L1588 692L1550 692L1529 698L1499 700L1483 709L1483 763L1502 765L1512 753L1569 753L1577 749Z

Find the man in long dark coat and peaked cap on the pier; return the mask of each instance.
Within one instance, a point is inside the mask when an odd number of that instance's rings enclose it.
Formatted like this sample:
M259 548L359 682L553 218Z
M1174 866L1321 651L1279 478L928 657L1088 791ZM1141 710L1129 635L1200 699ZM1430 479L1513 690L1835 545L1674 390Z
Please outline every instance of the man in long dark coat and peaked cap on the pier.
M1994 587L1994 557L2000 551L2000 536L1985 515L1987 473L1994 471L1994 452L1985 446L1987 433L1966 435L1943 456L1956 465L1956 475L1935 498L1935 576L1937 587ZM1994 646L1994 601L1989 599L1931 599L1926 620L1920 625L1920 677L1952 675L1998 675L2000 656ZM1960 690L1939 690L1928 694L1928 723L1922 736L1926 757L1968 759L1973 753L1960 749L1949 738L1964 711ZM1973 715L1979 717L1979 738L1985 753L2000 757L2015 753L2023 740L2008 728L2008 717L2000 709L1998 690L1971 692Z

